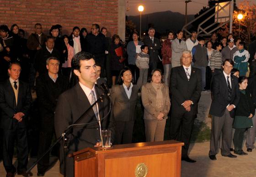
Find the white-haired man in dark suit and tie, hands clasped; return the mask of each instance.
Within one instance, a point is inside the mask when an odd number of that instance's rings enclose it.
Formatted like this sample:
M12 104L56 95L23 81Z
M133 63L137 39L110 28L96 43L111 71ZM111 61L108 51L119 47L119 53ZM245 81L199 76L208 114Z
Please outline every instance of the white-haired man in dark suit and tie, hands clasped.
M181 55L182 66L171 70L171 139L184 142L181 160L196 162L188 157L187 151L197 114L197 102L202 91L201 70L191 66L192 55L184 51ZM180 135L179 135L180 132Z

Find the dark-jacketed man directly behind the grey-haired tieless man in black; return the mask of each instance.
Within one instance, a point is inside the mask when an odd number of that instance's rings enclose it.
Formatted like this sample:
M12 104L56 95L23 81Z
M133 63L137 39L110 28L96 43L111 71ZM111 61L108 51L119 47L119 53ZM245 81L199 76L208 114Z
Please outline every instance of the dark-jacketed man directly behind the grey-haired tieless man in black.
M37 51L35 56L35 68L39 75L48 73L45 63L47 58L56 57L60 58L59 51L54 48L54 40L53 36L48 36L47 41L45 42L46 46Z

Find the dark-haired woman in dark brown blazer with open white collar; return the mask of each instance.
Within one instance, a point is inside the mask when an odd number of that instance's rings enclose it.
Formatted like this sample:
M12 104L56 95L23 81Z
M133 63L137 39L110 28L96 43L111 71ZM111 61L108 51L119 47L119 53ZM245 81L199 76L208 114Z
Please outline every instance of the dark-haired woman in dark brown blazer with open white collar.
M119 75L118 85L111 89L113 116L116 120L116 144L132 143L135 107L139 88L132 83L130 68L124 68Z

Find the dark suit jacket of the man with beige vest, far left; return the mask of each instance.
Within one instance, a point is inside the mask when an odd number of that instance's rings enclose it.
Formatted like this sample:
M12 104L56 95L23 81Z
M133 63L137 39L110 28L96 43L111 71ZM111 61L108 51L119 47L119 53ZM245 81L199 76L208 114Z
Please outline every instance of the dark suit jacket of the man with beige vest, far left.
M31 103L32 96L28 84L19 80L18 101L16 105L15 94L8 78L5 83L0 85L0 128L13 129L13 126L16 124L20 124L20 127L25 128ZM20 123L13 118L17 112L22 112L25 115Z

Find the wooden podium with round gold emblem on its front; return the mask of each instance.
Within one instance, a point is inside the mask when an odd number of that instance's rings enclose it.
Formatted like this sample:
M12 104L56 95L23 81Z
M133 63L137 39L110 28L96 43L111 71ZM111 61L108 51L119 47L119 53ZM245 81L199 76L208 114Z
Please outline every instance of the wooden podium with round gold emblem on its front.
M179 141L114 145L111 149L85 148L74 157L75 177L180 177Z

